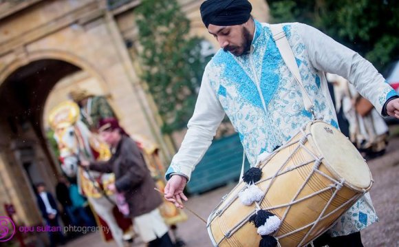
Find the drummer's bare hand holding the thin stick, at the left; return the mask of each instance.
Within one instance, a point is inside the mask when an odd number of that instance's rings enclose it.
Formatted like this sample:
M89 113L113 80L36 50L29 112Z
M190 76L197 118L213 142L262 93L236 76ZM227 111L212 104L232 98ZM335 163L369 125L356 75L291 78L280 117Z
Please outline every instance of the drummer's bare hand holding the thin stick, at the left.
M187 201L186 195L183 193L183 189L187 184L187 179L182 175L172 175L165 187L165 199L166 201L173 202L177 208L183 208L183 202Z

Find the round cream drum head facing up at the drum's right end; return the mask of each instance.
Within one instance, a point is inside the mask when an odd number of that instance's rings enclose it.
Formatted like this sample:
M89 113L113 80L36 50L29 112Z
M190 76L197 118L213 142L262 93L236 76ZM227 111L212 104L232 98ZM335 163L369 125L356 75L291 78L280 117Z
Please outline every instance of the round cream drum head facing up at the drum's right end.
M323 163L336 178L345 179L345 184L361 191L371 185L371 173L364 158L354 144L338 129L325 122L310 125L314 145L321 155Z

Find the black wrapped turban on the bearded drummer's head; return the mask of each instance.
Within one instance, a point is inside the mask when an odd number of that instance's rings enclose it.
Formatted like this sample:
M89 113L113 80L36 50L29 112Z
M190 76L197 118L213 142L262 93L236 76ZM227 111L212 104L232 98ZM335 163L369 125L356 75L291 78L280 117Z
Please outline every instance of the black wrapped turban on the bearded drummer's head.
M213 25L239 25L250 19L248 0L207 0L202 3L201 18L206 28Z

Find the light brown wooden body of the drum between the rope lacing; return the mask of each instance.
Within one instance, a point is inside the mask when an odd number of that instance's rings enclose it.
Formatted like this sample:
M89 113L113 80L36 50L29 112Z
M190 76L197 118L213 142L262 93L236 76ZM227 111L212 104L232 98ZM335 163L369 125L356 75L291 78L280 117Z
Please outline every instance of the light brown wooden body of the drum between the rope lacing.
M305 131L309 131L309 127ZM301 136L303 136L301 133L297 134L288 143L297 142ZM312 137L303 145L308 150L312 151L314 155L318 157L321 156L321 153L315 147L316 145ZM297 146L298 144L288 145L279 149L278 152L273 153L272 158L270 158L266 166L262 168L263 174L261 180L270 178L274 173L277 173L279 169L285 171L285 173L275 178L271 186L271 180L259 182L257 184L262 191L266 191L268 186L270 186L268 193L266 193L263 201L259 204L261 208L272 208L268 211L274 213L274 215L277 215L280 219L282 219L285 212L288 211L281 227L274 233L274 237L279 239L279 244L281 244L281 246L299 246L301 242L301 245L305 245L315 237L321 235L321 233L330 228L336 219L345 213L365 191L368 191L371 186L370 182L369 188L363 190L354 188L354 186L350 186L350 184L345 182L344 186L338 186L340 187L338 191L336 191L336 187L328 189L328 186L332 186L333 184L332 180L325 178L325 176L319 173L312 173L315 164L314 156L308 153L308 151L300 149L292 155L292 158L289 160L287 159ZM293 167L299 164L303 165L293 169ZM318 170L337 181L342 179L332 171L330 164L325 160L322 160L321 164L319 164ZM309 176L310 179L308 180ZM308 180L308 182L305 183L306 180ZM303 186L303 184L305 185ZM259 246L261 236L257 234L257 228L246 220L255 212L255 204L245 206L241 204L241 201L237 198L238 193L244 189L245 186L246 184L244 182L239 183L210 215L208 219L208 233L215 245ZM327 189L323 193L312 195L325 188ZM316 224L308 237L305 237L305 235L312 226L286 237L281 237L286 233L290 233L293 230L314 222L329 203L334 191L336 191L336 195L330 202L330 205L327 206L322 216L331 213L346 202L347 204L343 208L340 208L330 216L322 219ZM301 202L292 204L292 206L288 206L294 197L299 200L309 195L312 196ZM229 204L230 206L228 206ZM277 205L279 205L278 208L276 208ZM226 209L224 210L224 208ZM222 211L222 213L218 211ZM246 223L235 231L235 226L239 225L240 222ZM232 233L230 237L225 237L228 232L234 233ZM305 239L303 239L304 237Z

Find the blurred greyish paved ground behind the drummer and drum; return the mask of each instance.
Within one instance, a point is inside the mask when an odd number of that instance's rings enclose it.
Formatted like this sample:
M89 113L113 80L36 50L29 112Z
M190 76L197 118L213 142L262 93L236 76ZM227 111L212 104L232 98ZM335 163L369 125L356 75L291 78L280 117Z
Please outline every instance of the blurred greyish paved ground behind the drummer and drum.
M362 231L365 246L399 246L399 136L389 142L387 153L381 158L368 162L374 177L371 197L380 217L380 222ZM191 197L186 204L206 219L221 197L232 189L233 185L211 191L204 195ZM186 241L187 246L211 246L204 222L187 212L187 222L179 224L178 234ZM105 244L96 233L92 233L75 241L69 242L67 247L98 246L114 247L115 244ZM143 247L140 239L136 239L134 247Z

